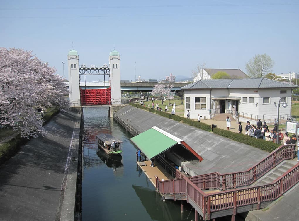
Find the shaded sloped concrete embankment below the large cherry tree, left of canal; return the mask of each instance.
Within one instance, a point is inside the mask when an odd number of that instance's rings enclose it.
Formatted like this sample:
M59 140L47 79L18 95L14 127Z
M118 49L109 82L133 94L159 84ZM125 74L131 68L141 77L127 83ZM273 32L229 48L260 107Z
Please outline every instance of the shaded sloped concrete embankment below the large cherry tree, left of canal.
M0 220L80 220L80 116L60 112L0 167Z

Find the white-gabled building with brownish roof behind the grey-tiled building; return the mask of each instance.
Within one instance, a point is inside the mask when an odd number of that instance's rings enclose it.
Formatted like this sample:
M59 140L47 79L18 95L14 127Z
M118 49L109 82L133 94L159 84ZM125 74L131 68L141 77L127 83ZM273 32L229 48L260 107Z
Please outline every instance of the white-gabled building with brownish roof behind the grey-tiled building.
M199 73L196 77L194 77L193 82L199 81L199 80L207 80L211 79L211 76L213 76L215 73L222 71L226 72L231 79L234 78L248 78L248 76L240 69L215 69L215 68L202 68L199 70Z

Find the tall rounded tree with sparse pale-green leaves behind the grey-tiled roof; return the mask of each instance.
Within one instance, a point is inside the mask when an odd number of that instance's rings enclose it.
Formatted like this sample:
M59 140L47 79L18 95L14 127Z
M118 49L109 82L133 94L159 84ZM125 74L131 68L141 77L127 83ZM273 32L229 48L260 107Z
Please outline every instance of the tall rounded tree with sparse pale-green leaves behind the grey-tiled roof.
M266 74L272 71L274 67L274 61L269 55L258 54L246 62L246 71L247 74L251 77L264 77Z

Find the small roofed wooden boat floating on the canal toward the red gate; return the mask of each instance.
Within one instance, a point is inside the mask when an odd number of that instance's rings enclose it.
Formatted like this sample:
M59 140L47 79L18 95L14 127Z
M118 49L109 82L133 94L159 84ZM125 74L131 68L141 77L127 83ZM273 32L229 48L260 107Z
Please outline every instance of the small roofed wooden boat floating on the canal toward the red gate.
M120 155L120 153L122 152L120 148L120 144L122 143L122 141L120 139L115 138L111 134L100 133L96 136L96 138L97 138L98 148L101 148L109 156ZM114 150L112 150L111 144L114 140L116 143L115 143Z

